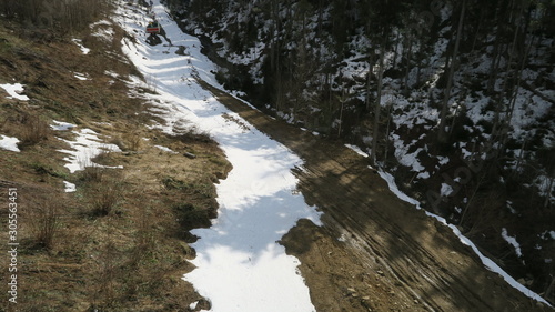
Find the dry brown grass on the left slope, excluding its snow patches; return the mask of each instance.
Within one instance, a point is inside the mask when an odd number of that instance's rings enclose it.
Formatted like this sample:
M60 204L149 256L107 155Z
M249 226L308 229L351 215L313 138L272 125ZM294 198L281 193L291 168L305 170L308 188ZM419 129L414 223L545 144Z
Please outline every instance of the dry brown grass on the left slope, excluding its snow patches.
M20 32L17 24L0 26L0 38L10 44L24 41L17 38ZM18 47L19 53L0 47L6 59L0 62L0 77L26 81L31 98L28 103L0 103L1 133L29 142L20 153L0 150L0 180L23 185L20 238L24 262L19 279L24 298L17 310L186 310L201 298L181 280L192 270L186 259L194 251L183 240L186 231L173 208L191 203L213 215L216 202L211 181L224 175L229 163L208 135L191 132L185 133L191 134L188 138L172 138L144 127L154 117L144 113L141 100L129 98L122 81L138 72L113 57L120 49L121 30L115 29L112 42L88 33L74 37L83 38L83 44L95 52L83 56L69 40L26 43ZM121 79L105 76L107 70ZM88 73L91 80L79 81L72 72ZM94 159L94 163L123 169L89 164L70 174L63 168L65 155L58 152L68 145L57 138L71 140L72 134L50 130L51 120L100 128L107 140L119 138L122 150L138 152L105 152ZM154 144L178 153L163 152ZM185 151L199 158L188 159ZM188 188L168 189L164 177ZM75 183L78 191L63 193L63 181ZM0 225L6 220L1 218ZM8 309L0 305L0 311Z

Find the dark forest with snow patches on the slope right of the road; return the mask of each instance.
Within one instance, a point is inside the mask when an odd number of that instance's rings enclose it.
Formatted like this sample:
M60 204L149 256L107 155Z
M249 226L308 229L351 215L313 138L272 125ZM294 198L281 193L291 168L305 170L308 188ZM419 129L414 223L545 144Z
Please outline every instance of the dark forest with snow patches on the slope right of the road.
M555 220L555 1L165 2L203 38L226 88L364 147L426 209L555 300L546 263L555 258L546 235ZM418 108L425 122L398 123ZM416 150L428 179L400 165L400 140L412 142L405 152ZM526 245L524 261L498 242L505 227Z

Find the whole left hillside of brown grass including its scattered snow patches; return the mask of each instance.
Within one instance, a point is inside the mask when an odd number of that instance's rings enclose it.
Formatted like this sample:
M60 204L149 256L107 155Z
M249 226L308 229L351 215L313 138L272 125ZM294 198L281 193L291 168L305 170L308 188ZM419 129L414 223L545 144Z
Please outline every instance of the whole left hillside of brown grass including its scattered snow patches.
M41 14L44 3L56 14ZM63 3L74 7L58 11ZM0 2L0 147L19 141L0 148L0 311L208 308L180 278L193 269L189 230L210 225L213 183L230 164L184 120L176 135L159 130L164 121L147 100L155 90L122 56L127 34L112 9ZM9 220L17 256L7 253Z

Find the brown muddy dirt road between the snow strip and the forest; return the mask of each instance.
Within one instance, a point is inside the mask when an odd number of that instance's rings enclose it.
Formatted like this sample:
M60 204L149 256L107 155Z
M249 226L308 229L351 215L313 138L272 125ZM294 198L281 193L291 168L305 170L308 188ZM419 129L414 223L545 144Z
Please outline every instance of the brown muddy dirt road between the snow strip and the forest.
M324 225L301 220L282 244L301 260L319 312L555 311L508 285L448 228L397 199L363 157L201 84L305 161L295 172L299 190L324 212Z

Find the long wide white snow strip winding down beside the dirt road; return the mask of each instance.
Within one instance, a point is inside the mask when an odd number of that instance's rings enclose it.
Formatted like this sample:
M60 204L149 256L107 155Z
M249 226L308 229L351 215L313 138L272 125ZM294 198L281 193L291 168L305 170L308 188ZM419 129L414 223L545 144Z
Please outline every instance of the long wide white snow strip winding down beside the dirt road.
M216 185L218 219L210 229L192 231L200 238L192 244L196 269L184 279L211 301L210 311L314 311L297 272L299 260L278 243L301 218L320 223L320 214L295 190L297 180L291 169L301 159L245 127L246 121L203 90L194 77L213 84L215 80L213 66L200 52L201 43L182 33L159 1L153 11L172 44L147 44L145 14L130 7L120 6L118 22L128 33L139 33L135 42L124 39L124 52L158 92L149 97L167 120L159 127L179 133L194 124L219 142L233 165ZM178 46L185 48L185 56L175 53Z

